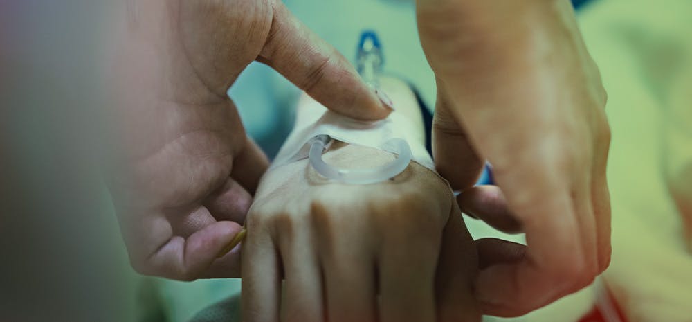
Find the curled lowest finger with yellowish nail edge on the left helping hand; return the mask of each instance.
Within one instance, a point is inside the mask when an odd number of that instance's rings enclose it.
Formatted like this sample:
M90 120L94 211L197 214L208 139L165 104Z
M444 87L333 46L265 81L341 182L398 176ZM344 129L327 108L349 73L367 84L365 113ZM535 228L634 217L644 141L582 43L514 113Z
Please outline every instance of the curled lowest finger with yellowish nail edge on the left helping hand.
M176 280L207 277L219 251L240 230L235 222L215 222L188 238L173 235L148 258L145 271Z

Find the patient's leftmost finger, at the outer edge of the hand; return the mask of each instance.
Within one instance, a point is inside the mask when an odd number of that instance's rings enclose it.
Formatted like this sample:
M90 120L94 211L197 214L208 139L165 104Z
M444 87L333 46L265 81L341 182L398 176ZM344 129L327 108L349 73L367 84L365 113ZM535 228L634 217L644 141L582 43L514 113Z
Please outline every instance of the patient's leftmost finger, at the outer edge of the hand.
M259 227L248 222L242 245L243 321L277 322L281 293L279 256L268 232Z

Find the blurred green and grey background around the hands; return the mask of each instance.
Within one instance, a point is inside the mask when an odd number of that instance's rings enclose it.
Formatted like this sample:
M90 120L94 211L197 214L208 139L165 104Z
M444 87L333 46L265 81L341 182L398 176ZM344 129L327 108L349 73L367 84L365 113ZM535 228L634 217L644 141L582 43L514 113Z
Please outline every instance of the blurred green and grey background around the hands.
M181 283L129 267L100 175L115 1L0 0L0 321L188 321L239 280ZM286 0L354 60L374 30L385 73L428 107L435 82L408 0ZM574 1L609 93L613 261L630 321L692 321L692 2ZM228 91L268 155L291 129L298 89L251 64ZM530 184L530 183L527 183ZM507 236L471 218L475 238ZM596 286L511 321L578 321ZM487 321L510 321L488 317Z

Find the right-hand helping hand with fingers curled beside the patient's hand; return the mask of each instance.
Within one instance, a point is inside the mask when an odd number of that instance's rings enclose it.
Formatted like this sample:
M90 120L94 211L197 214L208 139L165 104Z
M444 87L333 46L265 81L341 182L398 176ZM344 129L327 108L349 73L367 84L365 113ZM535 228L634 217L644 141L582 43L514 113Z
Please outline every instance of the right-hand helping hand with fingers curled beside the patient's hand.
M435 71L435 161L466 213L527 247L477 241L486 314L516 316L610 261L606 93L567 0L419 0ZM469 188L484 159L498 186Z

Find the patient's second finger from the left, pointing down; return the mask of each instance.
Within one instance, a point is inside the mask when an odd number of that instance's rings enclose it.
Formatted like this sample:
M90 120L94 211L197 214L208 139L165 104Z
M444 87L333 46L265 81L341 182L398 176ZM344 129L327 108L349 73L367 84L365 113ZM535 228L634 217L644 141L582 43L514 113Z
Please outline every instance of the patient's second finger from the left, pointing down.
M296 231L295 225L282 227L278 236L285 277L281 321L323 321L322 271L311 235Z

